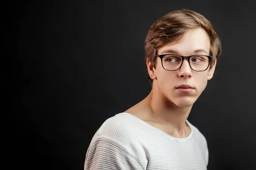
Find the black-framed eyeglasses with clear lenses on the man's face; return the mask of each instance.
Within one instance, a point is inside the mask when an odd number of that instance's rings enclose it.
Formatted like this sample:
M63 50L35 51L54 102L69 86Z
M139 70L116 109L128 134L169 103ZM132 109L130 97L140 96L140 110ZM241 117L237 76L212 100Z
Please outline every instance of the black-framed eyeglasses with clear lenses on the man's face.
M177 54L156 54L155 56L161 59L163 68L168 71L178 70L184 59L188 59L189 66L192 70L206 71L212 59L212 56L207 55L180 56Z

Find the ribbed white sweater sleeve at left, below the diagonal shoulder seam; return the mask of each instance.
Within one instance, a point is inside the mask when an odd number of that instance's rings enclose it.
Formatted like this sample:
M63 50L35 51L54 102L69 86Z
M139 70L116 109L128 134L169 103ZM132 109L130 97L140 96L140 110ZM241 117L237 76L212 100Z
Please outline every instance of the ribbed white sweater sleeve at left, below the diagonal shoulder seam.
M144 170L124 146L112 139L97 136L90 144L84 170Z

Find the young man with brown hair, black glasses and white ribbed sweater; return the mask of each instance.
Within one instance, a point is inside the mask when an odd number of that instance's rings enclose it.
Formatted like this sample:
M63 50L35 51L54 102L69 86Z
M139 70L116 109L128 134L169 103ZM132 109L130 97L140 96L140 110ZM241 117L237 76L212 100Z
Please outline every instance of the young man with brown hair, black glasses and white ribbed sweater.
M220 54L218 33L201 14L182 9L158 19L145 40L152 90L103 123L84 170L206 170L207 141L187 118Z

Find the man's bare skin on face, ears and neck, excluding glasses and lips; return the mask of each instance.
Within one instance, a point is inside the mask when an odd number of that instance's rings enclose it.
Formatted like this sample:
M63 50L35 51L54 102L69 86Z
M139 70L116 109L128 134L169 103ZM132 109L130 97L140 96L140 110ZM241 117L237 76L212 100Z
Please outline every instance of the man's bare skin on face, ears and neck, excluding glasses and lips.
M157 54L209 55L210 40L202 28L189 30L179 42L169 42L158 49ZM175 53L174 53L175 52ZM191 128L186 119L193 104L212 79L216 61L206 71L193 71L187 59L177 71L167 71L157 57L157 65L147 60L148 74L153 79L150 94L141 102L129 108L130 113L175 138L186 138ZM180 85L190 85L189 92L180 91Z

